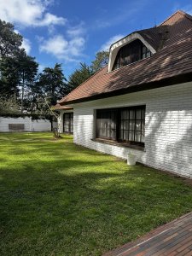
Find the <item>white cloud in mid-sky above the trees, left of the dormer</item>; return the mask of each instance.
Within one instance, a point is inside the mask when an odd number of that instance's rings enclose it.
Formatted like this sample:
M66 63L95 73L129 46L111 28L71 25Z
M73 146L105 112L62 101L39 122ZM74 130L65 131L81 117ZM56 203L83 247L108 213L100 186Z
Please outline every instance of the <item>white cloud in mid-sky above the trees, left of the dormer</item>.
M54 55L57 59L64 61L78 61L77 57L82 55L85 40L83 37L74 37L67 40L58 34L40 43L39 50Z

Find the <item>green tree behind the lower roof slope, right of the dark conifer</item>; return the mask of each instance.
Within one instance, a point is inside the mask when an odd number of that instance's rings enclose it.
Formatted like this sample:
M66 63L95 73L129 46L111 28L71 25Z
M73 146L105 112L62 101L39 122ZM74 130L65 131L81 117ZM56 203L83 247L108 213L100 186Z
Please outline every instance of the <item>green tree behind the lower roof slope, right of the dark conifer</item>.
M92 75L92 71L85 63L80 63L80 68L76 69L68 79L68 92L84 83Z

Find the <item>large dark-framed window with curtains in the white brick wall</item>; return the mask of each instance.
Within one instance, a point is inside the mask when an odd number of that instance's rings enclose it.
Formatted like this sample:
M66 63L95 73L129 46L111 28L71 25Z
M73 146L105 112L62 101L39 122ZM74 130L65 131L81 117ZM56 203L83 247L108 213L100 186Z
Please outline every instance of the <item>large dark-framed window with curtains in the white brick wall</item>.
M96 110L96 137L144 145L145 106Z

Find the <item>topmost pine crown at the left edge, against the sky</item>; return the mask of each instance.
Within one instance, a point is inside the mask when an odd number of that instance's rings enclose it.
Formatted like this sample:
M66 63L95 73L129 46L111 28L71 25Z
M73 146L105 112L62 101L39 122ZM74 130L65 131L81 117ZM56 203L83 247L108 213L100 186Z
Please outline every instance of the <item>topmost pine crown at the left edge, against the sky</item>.
M0 57L15 55L21 44L22 36L14 31L14 25L0 20Z

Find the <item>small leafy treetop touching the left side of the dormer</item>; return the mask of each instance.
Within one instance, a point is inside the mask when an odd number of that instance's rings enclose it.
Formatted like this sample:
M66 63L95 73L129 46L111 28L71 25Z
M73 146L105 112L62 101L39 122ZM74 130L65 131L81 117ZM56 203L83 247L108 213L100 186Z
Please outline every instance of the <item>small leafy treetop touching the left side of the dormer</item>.
M96 73L98 70L100 70L102 67L105 67L108 65L108 58L109 58L109 52L108 51L99 51L96 53L96 60L91 61L90 68L92 69L93 73Z

